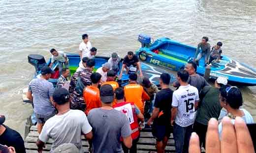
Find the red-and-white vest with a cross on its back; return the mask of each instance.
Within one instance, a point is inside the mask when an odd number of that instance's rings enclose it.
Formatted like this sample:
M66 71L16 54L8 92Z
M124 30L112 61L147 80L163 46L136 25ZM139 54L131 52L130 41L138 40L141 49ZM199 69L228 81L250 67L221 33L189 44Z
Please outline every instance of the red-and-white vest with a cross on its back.
M139 124L135 113L135 105L133 102L120 102L113 106L116 110L124 113L130 122L132 140L139 136Z

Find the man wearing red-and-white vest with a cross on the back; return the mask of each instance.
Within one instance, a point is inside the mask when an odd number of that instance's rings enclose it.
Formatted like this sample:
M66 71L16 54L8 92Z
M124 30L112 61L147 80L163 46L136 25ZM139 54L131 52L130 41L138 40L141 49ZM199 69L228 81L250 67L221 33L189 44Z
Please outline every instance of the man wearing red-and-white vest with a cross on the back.
M115 98L117 100L117 104L113 107L116 110L124 113L130 122L131 128L131 138L132 138L132 146L128 149L123 143L122 148L124 153L137 153L137 142L139 141L139 130L145 127L144 116L140 112L139 108L133 102L125 102L124 99L125 93L123 88L117 88L115 90ZM138 124L138 119L141 121Z

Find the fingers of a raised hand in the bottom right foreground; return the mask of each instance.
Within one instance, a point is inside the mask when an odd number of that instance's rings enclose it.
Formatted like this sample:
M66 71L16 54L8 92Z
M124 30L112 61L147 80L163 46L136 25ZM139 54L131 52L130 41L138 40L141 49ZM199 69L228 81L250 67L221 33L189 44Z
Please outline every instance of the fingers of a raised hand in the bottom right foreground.
M250 132L241 117L236 117L234 125L228 117L224 117L222 123L223 132L220 140L218 121L209 121L205 153L255 153ZM195 132L191 135L189 153L201 153L199 137Z

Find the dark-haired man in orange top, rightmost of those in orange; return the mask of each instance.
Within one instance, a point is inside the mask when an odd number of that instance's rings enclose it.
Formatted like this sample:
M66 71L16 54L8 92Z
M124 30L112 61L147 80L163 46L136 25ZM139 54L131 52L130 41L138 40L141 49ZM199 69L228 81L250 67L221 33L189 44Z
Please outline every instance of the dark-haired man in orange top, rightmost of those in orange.
M149 101L150 97L144 91L143 87L137 83L138 76L136 74L129 75L129 84L125 86L125 99L126 102L134 102L144 114L144 102Z

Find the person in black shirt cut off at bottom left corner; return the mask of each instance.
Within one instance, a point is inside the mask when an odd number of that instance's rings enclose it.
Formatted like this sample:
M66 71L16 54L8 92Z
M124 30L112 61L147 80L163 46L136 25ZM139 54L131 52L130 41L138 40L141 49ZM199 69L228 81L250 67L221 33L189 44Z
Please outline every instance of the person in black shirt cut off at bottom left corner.
M3 125L4 120L5 117L0 115L0 144L14 147L16 153L26 153L24 141L20 133Z

